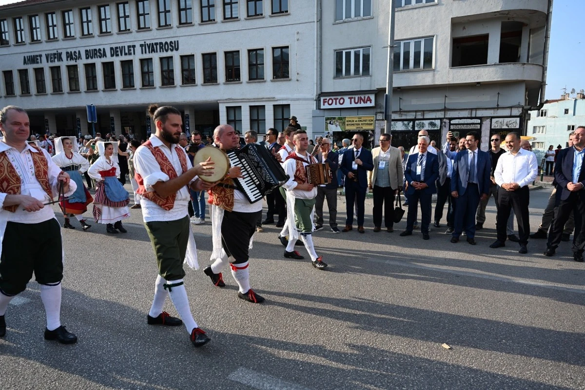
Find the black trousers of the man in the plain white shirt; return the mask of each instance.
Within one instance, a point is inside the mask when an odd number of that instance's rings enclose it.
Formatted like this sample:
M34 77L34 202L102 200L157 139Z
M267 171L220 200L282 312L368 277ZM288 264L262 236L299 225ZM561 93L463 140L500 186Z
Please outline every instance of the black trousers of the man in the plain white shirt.
M498 241L504 242L506 240L506 225L508 218L510 218L511 210L514 210L514 215L518 222L518 235L521 245L528 243L528 235L530 234L530 221L528 219L528 204L530 203L530 191L525 185L516 191L506 191L503 188L498 189L498 214L495 229L498 232ZM459 206L459 204L457 205Z

